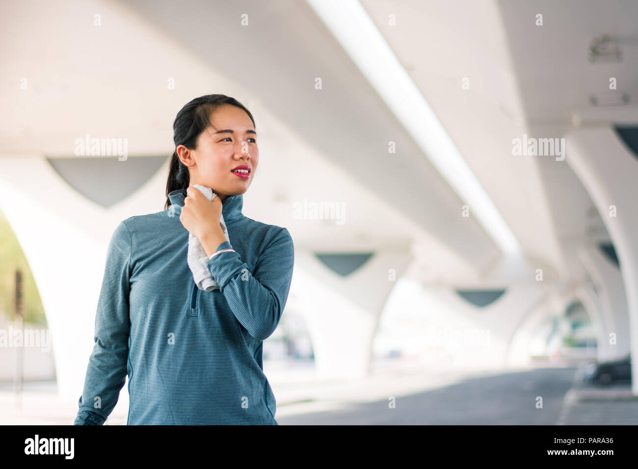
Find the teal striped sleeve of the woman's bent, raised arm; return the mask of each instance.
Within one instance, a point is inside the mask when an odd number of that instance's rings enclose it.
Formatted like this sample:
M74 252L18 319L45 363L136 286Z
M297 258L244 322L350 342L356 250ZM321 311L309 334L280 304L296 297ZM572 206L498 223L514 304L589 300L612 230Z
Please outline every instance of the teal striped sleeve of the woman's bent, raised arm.
M228 248L230 243L224 241L217 251ZM292 237L281 228L260 255L253 274L236 252L221 253L207 266L235 318L251 336L265 340L277 328L286 306L294 262Z

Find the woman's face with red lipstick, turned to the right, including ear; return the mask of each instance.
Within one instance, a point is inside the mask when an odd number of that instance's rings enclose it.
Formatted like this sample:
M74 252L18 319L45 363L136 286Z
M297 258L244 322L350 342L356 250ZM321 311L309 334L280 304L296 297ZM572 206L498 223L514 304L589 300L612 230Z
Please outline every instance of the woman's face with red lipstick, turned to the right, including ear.
M212 189L220 200L243 194L255 177L259 161L253 121L241 108L223 105L211 116L212 127L197 140L197 150L177 147L182 163L189 167L190 184ZM245 167L246 173L233 170Z

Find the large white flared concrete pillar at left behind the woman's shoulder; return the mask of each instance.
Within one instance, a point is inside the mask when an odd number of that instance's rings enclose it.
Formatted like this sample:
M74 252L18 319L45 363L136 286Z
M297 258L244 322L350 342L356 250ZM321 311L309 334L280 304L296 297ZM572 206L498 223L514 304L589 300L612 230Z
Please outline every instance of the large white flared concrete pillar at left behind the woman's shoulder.
M82 394L108 241L120 221L161 211L166 172L162 167L107 209L71 188L40 154L0 157L0 207L40 292L58 394L66 401Z

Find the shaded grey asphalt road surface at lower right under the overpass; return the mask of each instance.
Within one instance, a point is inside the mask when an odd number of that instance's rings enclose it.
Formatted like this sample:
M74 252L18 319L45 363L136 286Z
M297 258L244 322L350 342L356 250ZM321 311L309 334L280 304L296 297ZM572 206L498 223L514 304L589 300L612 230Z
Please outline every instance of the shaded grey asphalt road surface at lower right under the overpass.
M575 368L540 368L471 378L343 410L276 417L279 425L555 425ZM542 408L537 408L537 398Z

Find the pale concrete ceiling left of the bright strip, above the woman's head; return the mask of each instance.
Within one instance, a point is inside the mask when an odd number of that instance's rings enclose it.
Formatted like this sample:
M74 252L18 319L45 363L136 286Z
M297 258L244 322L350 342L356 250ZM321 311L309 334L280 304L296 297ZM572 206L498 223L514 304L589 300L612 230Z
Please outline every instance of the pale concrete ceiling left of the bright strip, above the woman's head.
M198 8L207 13L183 14ZM476 276L500 256L477 221L460 216L456 193L305 3L211 10L193 0L161 8L94 1L62 10L56 1L11 3L0 19L0 98L13 110L0 117L4 156L70 157L86 134L128 138L129 160L168 156L179 108L223 91L253 111L263 135L244 213L289 227L297 248L416 246L440 279ZM252 12L253 27L235 21L243 11ZM28 90L20 90L22 77ZM390 140L396 154L387 151ZM304 199L345 204L346 223L294 220L291 204ZM158 193L158 206L163 201Z

